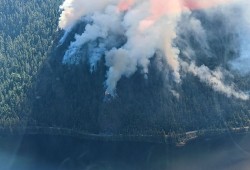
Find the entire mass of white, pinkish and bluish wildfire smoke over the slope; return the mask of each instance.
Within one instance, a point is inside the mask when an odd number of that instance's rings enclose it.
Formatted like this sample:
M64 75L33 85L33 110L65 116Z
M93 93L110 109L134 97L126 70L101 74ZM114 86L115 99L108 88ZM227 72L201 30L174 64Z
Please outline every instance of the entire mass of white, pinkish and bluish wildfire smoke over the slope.
M192 74L228 97L249 99L237 84L225 81L225 76L231 72L246 74L249 70L247 1L65 0L60 9L59 28L64 30L60 43L65 41L77 23L86 23L83 33L75 33L74 41L64 54L63 64L79 64L82 58L87 58L90 71L95 71L98 61L104 56L108 68L104 83L106 94L115 96L119 80L132 76L138 70L147 78L150 61L157 55L167 63L164 70L168 70L176 84L182 83L186 74ZM224 18L225 32L233 31L239 35L238 44L231 47L240 47L239 55L226 61L230 68L224 68L222 63L210 68L198 62L203 58L216 60L224 56L218 56L211 49L208 39L216 38L216 35L204 26L202 19L195 15L196 11L202 11L205 20L218 16ZM190 35L199 47L192 44ZM78 52L83 47L88 49L88 53L79 57ZM197 54L196 48L202 49L203 55Z

